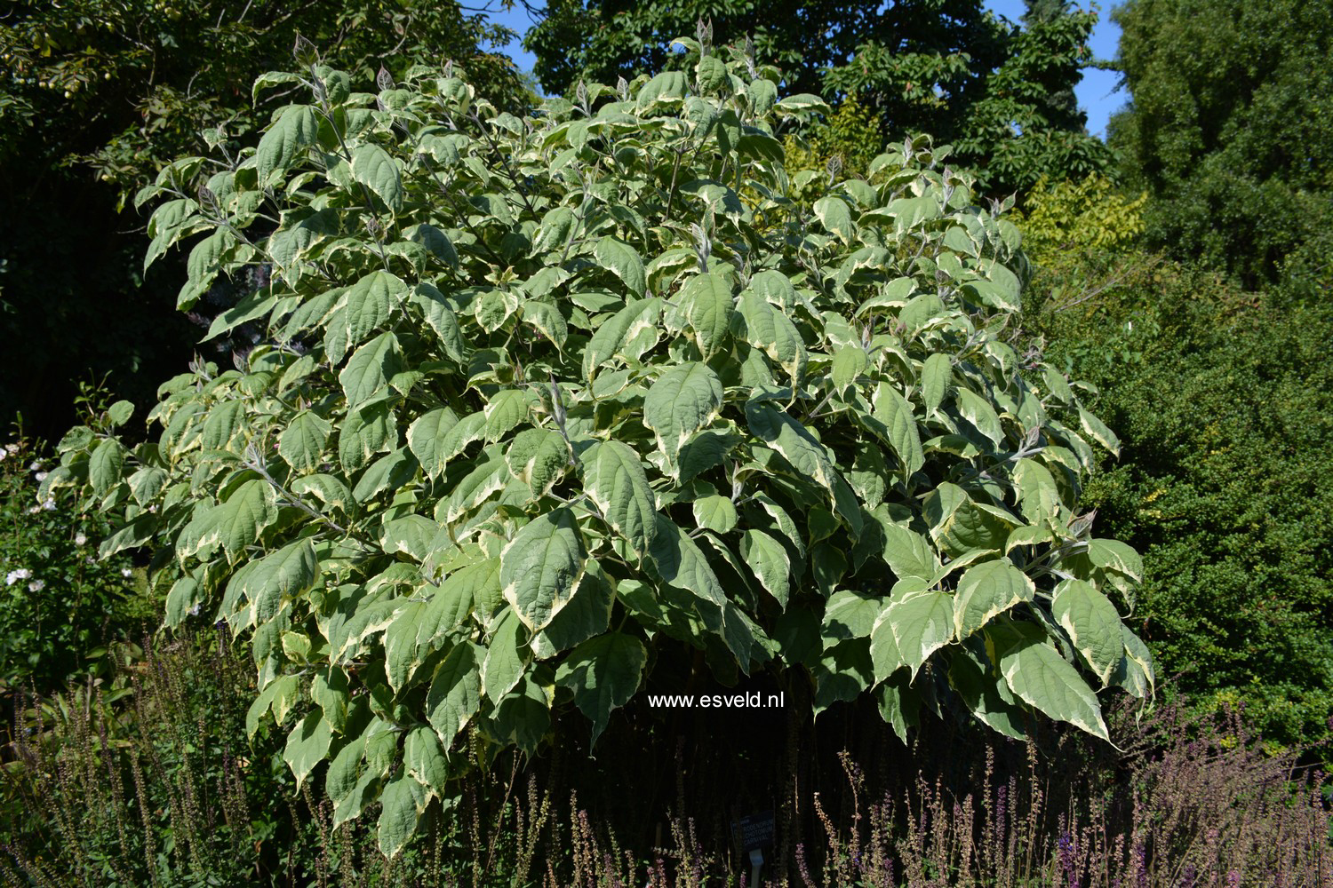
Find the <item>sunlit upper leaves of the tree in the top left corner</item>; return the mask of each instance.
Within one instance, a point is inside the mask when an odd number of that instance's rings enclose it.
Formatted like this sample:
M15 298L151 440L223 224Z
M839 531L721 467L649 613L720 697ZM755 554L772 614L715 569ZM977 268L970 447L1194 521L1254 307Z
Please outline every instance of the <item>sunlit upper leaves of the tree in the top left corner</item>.
M297 37L299 55L319 47L320 56L360 80L373 79L381 65L401 76L413 61L452 59L492 101L527 101L513 64L481 51L512 32L465 15L451 0L15 5L0 27L7 67L0 160L7 166L87 164L120 190L121 201L167 161L197 153L207 128L235 133L267 120L272 105L256 111L251 84L287 65Z

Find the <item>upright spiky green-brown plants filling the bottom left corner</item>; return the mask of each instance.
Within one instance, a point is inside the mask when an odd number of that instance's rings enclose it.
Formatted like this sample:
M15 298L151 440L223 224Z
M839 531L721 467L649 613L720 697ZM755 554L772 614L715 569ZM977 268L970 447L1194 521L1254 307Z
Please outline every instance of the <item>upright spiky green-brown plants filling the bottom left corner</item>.
M348 836L321 839L280 744L247 743L251 674L207 631L149 647L107 688L25 700L0 776L7 883L329 884Z

